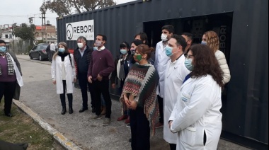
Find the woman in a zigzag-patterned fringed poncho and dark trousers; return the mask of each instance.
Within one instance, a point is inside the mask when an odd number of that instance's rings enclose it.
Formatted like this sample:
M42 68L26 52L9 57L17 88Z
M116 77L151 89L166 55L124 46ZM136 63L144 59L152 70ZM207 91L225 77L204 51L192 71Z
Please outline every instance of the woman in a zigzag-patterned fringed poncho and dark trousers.
M130 109L132 149L150 149L150 129L159 115L156 86L159 75L148 60L153 48L138 45L134 59L137 63L130 69L120 96L123 110ZM154 132L153 132L154 134Z

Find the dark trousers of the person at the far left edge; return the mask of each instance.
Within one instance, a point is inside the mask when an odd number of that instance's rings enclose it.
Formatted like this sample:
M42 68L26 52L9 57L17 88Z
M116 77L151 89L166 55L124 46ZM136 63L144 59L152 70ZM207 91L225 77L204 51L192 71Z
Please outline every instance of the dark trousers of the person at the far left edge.
M4 96L4 113L11 113L12 99L15 93L16 82L0 82L0 100Z

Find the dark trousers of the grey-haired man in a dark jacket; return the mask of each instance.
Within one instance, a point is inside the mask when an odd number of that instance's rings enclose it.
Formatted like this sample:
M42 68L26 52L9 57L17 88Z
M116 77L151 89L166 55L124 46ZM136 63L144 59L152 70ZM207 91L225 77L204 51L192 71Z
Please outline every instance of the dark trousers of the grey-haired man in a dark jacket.
M91 108L95 108L94 105L94 92L93 92L93 84L88 82L87 74L79 74L79 86L82 94L82 107L88 108L88 93L89 90L91 93ZM87 88L88 86L88 88Z

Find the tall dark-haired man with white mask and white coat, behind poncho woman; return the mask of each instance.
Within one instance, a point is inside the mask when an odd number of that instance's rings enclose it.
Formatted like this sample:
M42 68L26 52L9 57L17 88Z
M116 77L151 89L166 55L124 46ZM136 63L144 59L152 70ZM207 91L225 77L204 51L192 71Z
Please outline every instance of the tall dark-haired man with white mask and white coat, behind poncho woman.
M164 25L161 28L161 41L157 43L155 50L155 62L154 67L159 74L159 85L157 87L157 97L159 103L160 117L159 122L156 123L155 128L164 127L164 76L166 71L166 64L170 60L170 57L166 56L164 48L167 45L167 41L174 33L173 25Z

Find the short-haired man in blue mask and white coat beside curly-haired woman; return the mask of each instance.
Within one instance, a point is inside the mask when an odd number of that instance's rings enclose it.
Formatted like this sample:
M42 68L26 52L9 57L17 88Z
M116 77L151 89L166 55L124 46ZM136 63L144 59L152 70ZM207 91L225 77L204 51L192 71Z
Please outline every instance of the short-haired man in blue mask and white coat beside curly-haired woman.
M171 59L166 66L164 79L164 87L166 87L164 88L164 140L170 144L171 150L176 150L177 134L173 134L169 129L168 119L176 105L178 89L181 88L185 76L190 74L190 71L184 65L186 45L183 36L172 35L165 48L166 55Z

